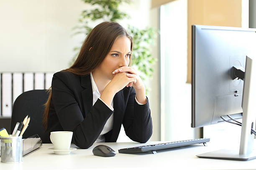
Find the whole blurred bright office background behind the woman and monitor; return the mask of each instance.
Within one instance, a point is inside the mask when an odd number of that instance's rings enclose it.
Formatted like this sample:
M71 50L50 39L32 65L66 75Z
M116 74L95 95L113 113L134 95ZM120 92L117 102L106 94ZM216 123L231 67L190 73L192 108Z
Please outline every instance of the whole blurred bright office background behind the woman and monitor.
M70 66L86 37L83 26L93 28L109 20L87 15L84 23L82 14L106 7L93 2L100 0L0 0L0 128L8 130L12 104L19 94L48 89L52 74ZM190 127L191 25L256 28L256 0L109 2L127 14L115 21L130 30L137 45L141 43L134 57L148 89L153 120L150 140L186 140L234 128L226 123L210 125L202 133ZM118 142L123 141L130 139L122 129Z

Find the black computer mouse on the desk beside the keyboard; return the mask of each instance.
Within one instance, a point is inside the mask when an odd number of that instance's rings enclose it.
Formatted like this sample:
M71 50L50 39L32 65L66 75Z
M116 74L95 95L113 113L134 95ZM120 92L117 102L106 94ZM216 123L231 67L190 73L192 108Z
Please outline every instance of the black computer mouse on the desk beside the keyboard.
M96 156L102 156L102 157L111 157L115 156L115 150L110 148L109 146L106 145L97 145L95 148L92 150L93 155Z

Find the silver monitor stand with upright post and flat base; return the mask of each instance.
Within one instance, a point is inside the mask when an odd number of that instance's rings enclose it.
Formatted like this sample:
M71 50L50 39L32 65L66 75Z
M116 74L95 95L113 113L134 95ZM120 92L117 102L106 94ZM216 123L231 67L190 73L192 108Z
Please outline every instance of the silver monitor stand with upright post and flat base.
M254 134L251 128L255 127L256 120L256 66L253 60L246 56L245 80L243 83L243 122L241 130L240 150L217 150L196 155L199 158L225 159L225 160L252 160L256 158L253 151Z

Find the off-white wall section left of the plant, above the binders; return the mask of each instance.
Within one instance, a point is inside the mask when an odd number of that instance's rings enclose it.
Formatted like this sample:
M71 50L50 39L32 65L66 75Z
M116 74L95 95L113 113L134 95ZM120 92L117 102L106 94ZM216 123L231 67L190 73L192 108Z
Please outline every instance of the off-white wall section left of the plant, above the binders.
M1 71L58 71L68 66L80 0L10 0L0 5Z

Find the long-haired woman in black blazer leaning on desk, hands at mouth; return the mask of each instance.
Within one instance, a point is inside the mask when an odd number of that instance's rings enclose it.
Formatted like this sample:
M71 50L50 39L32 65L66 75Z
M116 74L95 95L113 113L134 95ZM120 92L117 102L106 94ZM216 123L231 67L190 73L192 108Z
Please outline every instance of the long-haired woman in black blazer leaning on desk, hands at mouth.
M72 143L89 148L126 135L145 143L152 120L145 86L131 65L133 39L114 22L97 25L86 37L74 64L52 78L44 111L44 143L52 131L72 131Z

